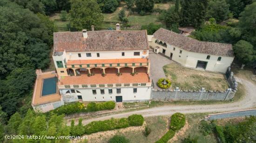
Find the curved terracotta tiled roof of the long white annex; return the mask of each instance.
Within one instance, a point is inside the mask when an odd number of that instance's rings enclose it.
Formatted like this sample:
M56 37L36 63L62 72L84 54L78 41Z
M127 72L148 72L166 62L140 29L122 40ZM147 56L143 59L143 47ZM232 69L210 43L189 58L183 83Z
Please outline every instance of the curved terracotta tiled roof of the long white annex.
M203 53L216 56L234 57L234 52L231 44L202 42L196 39L183 36L173 31L160 28L153 34L156 39L196 53Z

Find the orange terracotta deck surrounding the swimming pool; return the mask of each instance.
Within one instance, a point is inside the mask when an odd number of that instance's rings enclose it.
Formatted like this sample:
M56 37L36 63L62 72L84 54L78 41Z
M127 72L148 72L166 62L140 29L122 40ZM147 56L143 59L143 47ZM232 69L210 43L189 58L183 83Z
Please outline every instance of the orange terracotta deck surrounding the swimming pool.
M45 72L45 73L36 71L36 74L37 74L37 78L36 78L35 85L34 85L32 105L40 105L40 104L46 104L46 103L60 101L61 95L59 94L58 89L57 89L56 94L41 96L43 79L55 77L56 76L55 71L50 71L50 72Z

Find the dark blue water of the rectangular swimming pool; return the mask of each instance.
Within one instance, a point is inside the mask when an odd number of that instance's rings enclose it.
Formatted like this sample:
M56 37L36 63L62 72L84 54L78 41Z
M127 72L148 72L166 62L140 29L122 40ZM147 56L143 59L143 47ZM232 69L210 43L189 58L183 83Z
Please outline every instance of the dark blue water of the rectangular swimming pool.
M57 93L57 77L43 79L42 96Z

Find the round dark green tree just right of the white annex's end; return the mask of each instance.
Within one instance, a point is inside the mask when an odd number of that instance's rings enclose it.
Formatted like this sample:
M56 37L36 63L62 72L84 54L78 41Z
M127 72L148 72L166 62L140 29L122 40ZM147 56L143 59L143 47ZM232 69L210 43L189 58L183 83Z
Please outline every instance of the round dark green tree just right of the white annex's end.
M256 51L253 50L253 45L244 40L240 40L234 45L234 53L236 58L243 63L241 69L245 64L256 60Z

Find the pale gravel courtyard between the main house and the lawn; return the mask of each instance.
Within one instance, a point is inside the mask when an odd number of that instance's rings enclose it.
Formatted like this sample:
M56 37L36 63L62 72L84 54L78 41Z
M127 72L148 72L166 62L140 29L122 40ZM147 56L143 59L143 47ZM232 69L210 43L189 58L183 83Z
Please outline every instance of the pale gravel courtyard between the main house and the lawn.
M150 77L153 79L154 88L161 89L157 87L156 82L158 81L158 79L166 77L162 67L172 63L173 61L168 59L167 57L161 56L159 54L155 54L152 49L149 49L149 60L150 60Z

